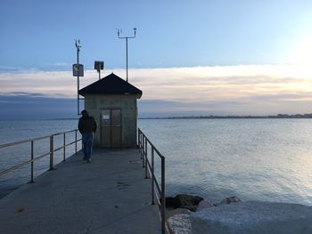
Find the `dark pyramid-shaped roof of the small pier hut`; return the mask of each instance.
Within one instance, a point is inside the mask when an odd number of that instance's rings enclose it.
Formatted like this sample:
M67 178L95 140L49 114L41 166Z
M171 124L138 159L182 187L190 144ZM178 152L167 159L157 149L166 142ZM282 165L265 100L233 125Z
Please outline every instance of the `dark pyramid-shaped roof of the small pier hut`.
M142 91L111 73L111 75L80 89L79 94L82 96L86 94L136 94L137 98L141 98Z

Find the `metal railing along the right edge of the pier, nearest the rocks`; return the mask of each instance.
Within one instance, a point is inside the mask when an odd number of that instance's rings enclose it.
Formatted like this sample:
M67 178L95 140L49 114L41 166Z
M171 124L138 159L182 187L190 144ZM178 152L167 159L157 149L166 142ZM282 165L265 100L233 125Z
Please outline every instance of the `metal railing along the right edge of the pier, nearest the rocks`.
M148 144L149 148L151 149L151 159L152 163L149 161L148 158ZM152 177L152 205L155 204L155 197L156 202L160 206L160 217L161 217L161 233L166 233L166 204L165 204L165 157L160 154L160 151L155 148L152 142L146 137L146 135L138 128L137 134L137 145L141 154L141 159L143 162L143 167L145 168L145 178ZM160 157L160 183L157 181L155 176L155 153ZM155 190L156 188L156 190Z

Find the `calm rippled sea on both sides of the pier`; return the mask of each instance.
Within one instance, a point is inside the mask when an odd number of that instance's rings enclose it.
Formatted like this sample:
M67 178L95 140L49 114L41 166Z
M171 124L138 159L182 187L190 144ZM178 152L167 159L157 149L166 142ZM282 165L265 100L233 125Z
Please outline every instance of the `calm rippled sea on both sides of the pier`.
M236 195L312 206L311 119L143 119L138 125L166 157L168 196L189 193L217 203ZM0 144L76 126L76 120L0 121ZM0 149L0 170L28 158L28 147ZM29 180L29 166L20 171ZM0 177L2 194L22 182L14 176Z

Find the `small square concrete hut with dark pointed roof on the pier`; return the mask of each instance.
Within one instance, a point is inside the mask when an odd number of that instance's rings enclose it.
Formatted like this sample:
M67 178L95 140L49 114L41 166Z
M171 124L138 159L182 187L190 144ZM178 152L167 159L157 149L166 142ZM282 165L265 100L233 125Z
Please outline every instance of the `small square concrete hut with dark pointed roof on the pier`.
M137 105L142 91L111 73L79 90L85 109L94 117L98 130L94 146L132 148L136 146Z

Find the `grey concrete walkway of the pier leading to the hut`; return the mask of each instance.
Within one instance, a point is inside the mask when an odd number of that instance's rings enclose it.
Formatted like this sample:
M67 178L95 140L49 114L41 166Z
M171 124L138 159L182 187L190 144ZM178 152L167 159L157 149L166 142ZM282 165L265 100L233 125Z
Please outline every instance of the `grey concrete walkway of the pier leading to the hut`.
M138 149L81 152L0 200L0 233L160 233Z

